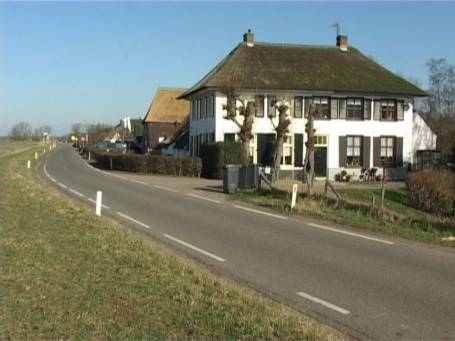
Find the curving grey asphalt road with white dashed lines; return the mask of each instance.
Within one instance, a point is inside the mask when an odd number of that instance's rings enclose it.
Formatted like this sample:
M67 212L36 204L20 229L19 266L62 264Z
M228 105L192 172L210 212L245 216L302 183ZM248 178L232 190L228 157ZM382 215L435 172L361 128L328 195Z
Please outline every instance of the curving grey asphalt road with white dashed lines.
M455 339L455 252L102 172L69 145L43 177L103 214L361 339Z

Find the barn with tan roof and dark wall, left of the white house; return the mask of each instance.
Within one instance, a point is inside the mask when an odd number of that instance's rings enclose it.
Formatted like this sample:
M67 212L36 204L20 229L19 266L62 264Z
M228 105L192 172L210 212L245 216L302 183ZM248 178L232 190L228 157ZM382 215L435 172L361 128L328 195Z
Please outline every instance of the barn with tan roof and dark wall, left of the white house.
M145 151L155 149L172 136L189 115L188 101L177 99L186 89L158 88L144 118Z

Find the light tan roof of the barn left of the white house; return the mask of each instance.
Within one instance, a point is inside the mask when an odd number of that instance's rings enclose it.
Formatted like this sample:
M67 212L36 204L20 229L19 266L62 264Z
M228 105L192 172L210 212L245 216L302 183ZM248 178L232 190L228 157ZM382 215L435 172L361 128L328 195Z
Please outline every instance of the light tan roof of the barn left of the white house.
M180 123L190 112L190 104L177 99L186 89L158 88L144 122Z

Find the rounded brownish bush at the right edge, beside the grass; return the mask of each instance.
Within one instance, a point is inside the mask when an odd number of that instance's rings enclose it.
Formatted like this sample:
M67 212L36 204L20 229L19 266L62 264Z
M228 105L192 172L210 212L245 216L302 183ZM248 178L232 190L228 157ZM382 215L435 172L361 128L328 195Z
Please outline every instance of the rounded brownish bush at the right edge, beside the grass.
M406 179L411 204L426 212L455 216L455 174L449 171L409 173Z

